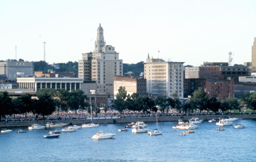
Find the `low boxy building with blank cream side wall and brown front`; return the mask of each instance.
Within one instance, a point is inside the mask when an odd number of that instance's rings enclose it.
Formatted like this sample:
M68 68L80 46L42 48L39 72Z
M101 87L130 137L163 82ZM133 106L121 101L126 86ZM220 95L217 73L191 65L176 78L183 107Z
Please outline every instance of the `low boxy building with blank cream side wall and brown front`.
M119 87L125 87L127 95L137 93L138 95L147 95L147 82L144 78L115 77L114 78L114 97L118 93Z

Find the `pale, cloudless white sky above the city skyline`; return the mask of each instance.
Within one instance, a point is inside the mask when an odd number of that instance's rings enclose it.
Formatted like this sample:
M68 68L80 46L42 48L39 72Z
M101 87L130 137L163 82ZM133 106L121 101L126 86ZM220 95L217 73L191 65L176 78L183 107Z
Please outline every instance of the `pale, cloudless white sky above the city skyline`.
M256 1L0 1L0 60L64 63L93 52L97 28L123 63L251 61ZM158 52L159 51L159 52Z

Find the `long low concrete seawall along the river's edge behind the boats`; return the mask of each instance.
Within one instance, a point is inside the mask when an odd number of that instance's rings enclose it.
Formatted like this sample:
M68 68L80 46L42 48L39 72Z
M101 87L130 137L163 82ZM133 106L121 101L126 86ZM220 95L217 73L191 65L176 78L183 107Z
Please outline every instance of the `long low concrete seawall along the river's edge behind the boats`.
M218 120L219 118L223 118L226 116L217 115L217 116L161 116L158 117L158 121L164 122L164 121L178 121L179 119L182 119L184 121L189 120L192 117L198 117L201 120L211 120L214 118L215 120ZM256 119L256 114L240 114L240 115L232 115L231 117L237 117L241 119ZM125 118L103 118L103 119L94 119L94 123L99 124L111 124L111 123L131 123L136 121L144 121L144 122L155 122L155 117L125 117ZM28 127L32 124L40 124L45 125L51 120L39 120L39 121L2 121L0 122L0 127ZM52 120L55 123L72 123L72 124L84 124L84 123L90 123L90 120Z

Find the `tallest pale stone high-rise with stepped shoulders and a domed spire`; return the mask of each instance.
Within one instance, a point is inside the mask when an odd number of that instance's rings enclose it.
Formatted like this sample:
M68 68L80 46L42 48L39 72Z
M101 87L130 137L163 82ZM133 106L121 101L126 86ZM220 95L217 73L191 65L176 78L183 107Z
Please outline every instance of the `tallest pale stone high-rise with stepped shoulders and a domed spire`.
M123 75L123 60L112 45L106 45L101 24L97 29L94 52L82 53L79 60L79 78L96 81L97 93L113 95L113 78Z

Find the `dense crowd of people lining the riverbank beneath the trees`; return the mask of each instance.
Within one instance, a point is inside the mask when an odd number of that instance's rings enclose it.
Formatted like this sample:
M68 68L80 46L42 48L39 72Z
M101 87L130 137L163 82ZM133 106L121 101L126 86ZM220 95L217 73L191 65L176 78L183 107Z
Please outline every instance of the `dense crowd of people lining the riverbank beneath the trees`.
M154 117L154 116L197 116L197 115L215 115L216 113L209 113L207 111L200 112L195 111L194 113L186 113L184 111L177 111L176 109L166 109L162 111L131 111L124 110L122 113L116 110L101 110L99 113L93 112L93 119L104 119L104 118L129 118L129 117ZM12 116L5 116L1 118L1 121L35 121L35 120L89 120L91 118L90 112L87 110L77 111L55 111L49 116L41 116L33 113L24 114L12 114Z

